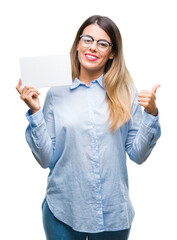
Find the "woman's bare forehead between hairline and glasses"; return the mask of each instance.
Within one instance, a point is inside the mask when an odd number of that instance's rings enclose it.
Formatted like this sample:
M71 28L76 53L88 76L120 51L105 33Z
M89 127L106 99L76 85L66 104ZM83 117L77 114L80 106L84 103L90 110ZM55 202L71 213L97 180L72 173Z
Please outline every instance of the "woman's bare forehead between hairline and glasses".
M105 39L109 42L111 40L108 34L97 24L88 25L86 28L84 28L84 31L82 34L90 35L96 40Z

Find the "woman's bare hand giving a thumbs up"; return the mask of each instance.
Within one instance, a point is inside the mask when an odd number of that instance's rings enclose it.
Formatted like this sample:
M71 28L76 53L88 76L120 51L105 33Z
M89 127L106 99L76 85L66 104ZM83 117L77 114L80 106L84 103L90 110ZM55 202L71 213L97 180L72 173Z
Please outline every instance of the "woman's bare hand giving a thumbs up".
M142 90L138 94L138 103L143 106L145 111L153 116L157 116L156 91L160 85L155 85L151 91Z

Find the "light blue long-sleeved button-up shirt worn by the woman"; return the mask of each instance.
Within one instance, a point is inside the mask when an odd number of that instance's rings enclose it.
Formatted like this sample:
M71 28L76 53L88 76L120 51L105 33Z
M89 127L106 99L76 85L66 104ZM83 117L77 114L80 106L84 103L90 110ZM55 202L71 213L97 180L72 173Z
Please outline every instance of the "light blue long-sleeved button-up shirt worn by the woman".
M111 133L103 76L86 86L51 88L43 111L27 113L27 142L49 168L46 200L56 218L80 232L128 229L134 218L126 153L141 164L160 137L158 116L142 115L137 94L132 117Z

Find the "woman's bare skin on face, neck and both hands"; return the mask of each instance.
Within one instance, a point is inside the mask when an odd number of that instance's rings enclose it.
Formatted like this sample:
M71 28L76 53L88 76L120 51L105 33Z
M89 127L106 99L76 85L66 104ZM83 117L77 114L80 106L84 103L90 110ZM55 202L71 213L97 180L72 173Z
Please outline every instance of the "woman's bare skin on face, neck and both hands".
M105 39L108 42L111 42L111 39L107 33L97 24L91 24L87 26L83 31L83 35L90 35L96 40ZM93 79L97 79L104 73L106 62L108 59L112 59L114 57L114 54L112 53L112 47L109 47L106 52L100 52L97 49L96 41L94 41L93 44L88 48L83 48L79 42L77 51L80 62L79 79L88 86ZM93 56L96 59L93 59L90 56ZM32 114L36 113L40 109L40 93L34 87L25 86L22 89L21 86L22 81L20 79L16 86L16 89L20 94L20 98L28 105ZM143 106L145 111L153 116L157 116L158 114L155 100L156 91L159 87L160 85L155 85L151 91L141 90L138 94L139 105Z

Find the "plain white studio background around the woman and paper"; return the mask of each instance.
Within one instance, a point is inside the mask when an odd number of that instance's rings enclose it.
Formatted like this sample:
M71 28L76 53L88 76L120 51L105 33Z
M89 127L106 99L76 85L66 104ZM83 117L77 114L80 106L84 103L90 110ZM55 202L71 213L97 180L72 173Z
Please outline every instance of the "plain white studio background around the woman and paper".
M128 160L136 211L130 240L177 239L177 15L172 0L1 1L0 239L45 239L41 204L48 170L37 164L25 141L28 108L15 89L19 58L68 53L81 23L93 14L110 17L120 28L126 64L138 90L161 84L161 139L143 165ZM42 105L47 89L39 91Z

